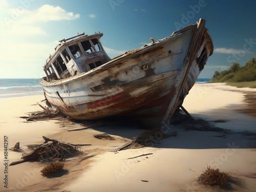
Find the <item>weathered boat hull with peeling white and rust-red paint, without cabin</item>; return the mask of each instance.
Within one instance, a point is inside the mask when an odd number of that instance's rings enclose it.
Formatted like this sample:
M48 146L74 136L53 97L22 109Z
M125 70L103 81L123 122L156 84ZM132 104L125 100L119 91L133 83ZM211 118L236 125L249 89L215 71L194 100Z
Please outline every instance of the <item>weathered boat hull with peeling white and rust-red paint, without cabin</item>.
M184 60L191 49L196 25L128 51L89 72L48 82L40 79L48 102L73 119L92 120L125 116L158 124L168 110L183 78ZM198 39L196 57L187 73L176 105L179 107L193 87L213 46L207 29ZM195 51L195 50L194 50ZM157 120L156 120L157 119ZM150 122L150 123L148 123ZM155 126L154 124L154 126Z

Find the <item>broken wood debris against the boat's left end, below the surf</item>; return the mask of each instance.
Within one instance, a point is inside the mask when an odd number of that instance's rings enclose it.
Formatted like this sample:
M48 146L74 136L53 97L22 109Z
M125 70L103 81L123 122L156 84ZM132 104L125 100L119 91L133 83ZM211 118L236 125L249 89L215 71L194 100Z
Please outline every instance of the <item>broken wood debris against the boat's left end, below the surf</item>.
M35 121L49 119L59 115L59 111L57 109L49 108L48 106L44 107L40 104L38 105L43 109L43 111L31 112L28 113L29 116L22 116L20 118L27 119L27 121Z

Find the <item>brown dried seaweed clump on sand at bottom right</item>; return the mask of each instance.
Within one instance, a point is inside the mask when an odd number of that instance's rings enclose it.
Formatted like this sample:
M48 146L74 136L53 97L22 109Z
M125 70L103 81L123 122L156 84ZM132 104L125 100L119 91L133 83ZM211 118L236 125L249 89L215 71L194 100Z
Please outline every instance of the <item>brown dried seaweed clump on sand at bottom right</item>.
M207 169L203 174L201 174L198 178L198 183L204 185L218 185L223 186L228 181L228 174L221 173L220 170L210 168L207 166Z

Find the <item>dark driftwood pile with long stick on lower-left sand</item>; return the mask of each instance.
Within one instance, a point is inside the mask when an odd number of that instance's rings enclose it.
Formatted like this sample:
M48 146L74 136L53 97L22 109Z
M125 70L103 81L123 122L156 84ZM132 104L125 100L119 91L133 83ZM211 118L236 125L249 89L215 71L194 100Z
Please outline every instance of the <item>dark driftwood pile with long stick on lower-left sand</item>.
M21 160L12 162L10 165L16 165L26 161L62 161L63 159L80 154L79 147L69 143L49 139L45 136L45 143L38 146L33 152L22 157Z

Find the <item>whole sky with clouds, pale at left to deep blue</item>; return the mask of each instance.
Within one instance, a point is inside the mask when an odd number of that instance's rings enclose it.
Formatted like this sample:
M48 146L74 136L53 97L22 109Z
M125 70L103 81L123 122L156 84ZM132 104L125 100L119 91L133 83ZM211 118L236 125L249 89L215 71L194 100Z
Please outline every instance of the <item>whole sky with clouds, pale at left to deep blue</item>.
M110 57L206 19L214 54L200 78L256 57L254 0L0 0L0 78L40 78L58 40L102 32Z

